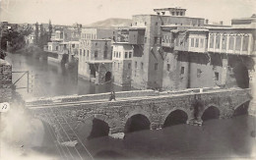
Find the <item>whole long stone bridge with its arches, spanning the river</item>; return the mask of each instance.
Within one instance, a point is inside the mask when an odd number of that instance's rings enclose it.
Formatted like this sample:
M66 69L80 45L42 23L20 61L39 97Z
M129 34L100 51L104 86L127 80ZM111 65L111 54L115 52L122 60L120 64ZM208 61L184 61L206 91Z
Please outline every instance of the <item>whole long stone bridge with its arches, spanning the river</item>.
M71 141L77 140L78 126L88 121L94 121L93 128L105 135L157 130L175 123L229 118L236 111L247 112L251 100L250 89L241 88L136 90L116 92L115 97L116 101L109 101L109 93L100 93L37 98L26 106L35 118L54 129L59 141Z

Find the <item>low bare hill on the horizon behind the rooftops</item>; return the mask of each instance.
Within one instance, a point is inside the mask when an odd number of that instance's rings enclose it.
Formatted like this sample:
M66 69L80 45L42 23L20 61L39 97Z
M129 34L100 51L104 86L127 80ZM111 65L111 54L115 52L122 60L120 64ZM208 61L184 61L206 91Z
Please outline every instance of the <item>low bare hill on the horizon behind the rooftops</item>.
M112 19L96 22L87 27L130 27L131 23L132 23L132 20L130 19L112 18Z

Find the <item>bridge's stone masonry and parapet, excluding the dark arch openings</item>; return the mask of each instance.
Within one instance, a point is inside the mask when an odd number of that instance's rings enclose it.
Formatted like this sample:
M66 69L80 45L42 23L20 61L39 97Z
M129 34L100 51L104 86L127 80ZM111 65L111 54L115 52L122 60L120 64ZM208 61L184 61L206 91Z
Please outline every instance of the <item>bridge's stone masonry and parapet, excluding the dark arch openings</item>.
M124 94L123 94L124 95ZM135 115L143 115L155 130L164 125L168 115L180 110L187 121L201 121L204 112L211 106L220 110L221 118L231 117L241 104L250 101L250 89L212 89L201 92L150 92L148 96L117 97L78 102L28 105L32 114L54 127L60 141L69 140L63 129L76 131L77 126L93 119L105 122L110 133L124 133L127 122ZM50 119L50 121L48 120ZM69 129L69 130L68 130ZM72 134L72 133L71 133ZM71 136L76 138L76 136Z

